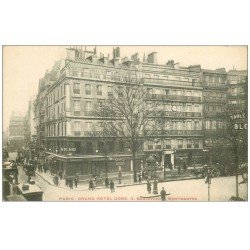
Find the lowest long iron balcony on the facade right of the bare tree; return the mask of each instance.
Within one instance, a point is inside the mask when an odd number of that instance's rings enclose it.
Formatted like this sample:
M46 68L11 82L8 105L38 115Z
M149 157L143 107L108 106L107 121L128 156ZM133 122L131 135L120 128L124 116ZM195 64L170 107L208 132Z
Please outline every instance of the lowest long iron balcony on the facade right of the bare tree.
M146 136L201 136L203 130L147 130Z

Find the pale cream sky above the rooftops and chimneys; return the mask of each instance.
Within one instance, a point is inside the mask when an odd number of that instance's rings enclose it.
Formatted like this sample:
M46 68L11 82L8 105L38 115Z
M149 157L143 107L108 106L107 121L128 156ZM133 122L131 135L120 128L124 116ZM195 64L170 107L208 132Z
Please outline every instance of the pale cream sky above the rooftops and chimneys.
M69 47L69 46L67 46ZM112 55L115 46L97 46L97 54ZM157 52L158 63L173 59L181 66L200 64L205 69L235 67L247 69L247 46L119 46L121 57L138 52ZM84 45L83 45L84 48ZM93 50L94 46L87 46ZM56 60L66 56L66 46L3 47L3 130L9 125L12 111L25 113L30 98L37 94L38 82Z

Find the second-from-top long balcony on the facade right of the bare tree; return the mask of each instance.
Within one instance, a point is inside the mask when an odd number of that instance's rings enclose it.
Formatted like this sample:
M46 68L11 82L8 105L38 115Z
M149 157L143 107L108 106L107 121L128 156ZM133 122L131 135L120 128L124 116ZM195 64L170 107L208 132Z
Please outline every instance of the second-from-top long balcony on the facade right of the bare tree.
M164 95L164 94L147 94L149 100L162 101L182 101L182 102L201 102L199 96L181 96L181 95Z

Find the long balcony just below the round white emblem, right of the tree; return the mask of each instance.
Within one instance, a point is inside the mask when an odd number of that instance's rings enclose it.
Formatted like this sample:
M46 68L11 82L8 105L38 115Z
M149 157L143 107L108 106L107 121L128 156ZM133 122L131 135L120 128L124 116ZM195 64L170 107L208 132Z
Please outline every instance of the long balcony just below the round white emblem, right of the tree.
M173 112L173 111L147 111L149 117L178 117L178 118L199 118L201 112Z

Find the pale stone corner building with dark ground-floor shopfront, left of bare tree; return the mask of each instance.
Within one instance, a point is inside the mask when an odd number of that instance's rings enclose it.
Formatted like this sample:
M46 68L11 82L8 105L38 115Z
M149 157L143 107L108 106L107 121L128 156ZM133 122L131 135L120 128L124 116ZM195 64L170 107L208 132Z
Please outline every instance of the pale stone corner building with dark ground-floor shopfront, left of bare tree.
M46 94L46 154L52 172L61 171L65 176L78 173L87 179L118 173L117 162L121 160L122 172L133 170L131 154L119 138L108 138L109 153L105 155L102 140L95 133L103 119L94 114L95 108L113 95L115 85L128 78L138 81L138 69L128 59L121 62L119 53L119 48L115 49L110 60L98 58L96 51L67 49L65 66Z

